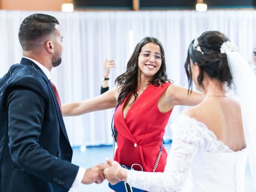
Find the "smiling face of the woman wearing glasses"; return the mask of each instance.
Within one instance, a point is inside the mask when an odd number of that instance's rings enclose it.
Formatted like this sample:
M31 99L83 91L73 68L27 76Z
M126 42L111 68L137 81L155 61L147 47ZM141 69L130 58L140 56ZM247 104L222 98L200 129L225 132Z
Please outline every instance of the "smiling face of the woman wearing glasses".
M162 54L160 46L154 43L145 44L140 53L138 57L138 75L141 79L152 80L152 77L158 72L162 64L161 59L156 59L158 58L158 53ZM142 53L150 53L151 56L144 56Z

